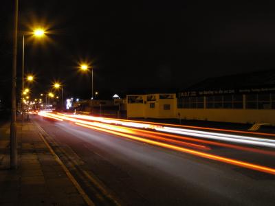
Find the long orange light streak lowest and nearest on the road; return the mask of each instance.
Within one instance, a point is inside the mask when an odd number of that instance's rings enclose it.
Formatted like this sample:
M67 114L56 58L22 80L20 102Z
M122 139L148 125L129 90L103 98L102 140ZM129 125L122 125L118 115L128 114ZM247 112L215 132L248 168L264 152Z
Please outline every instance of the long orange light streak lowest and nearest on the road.
M165 144L165 143L162 143L162 142L159 142L159 141L153 141L153 140L150 140L150 139L144 139L142 137L135 137L133 135L118 133L118 132L107 130L107 129L104 129L104 128L89 126L87 124L80 124L80 123L77 123L77 122L76 122L76 124L80 125L80 126L87 127L87 128L92 128L94 130L100 130L100 131L103 131L103 132L106 132L106 133L111 133L113 135L118 135L118 136L121 136L121 137L126 137L126 138L129 138L129 139L134 139L134 140L137 140L137 141L146 142L148 144L153 144L155 146L160 146L160 147L163 147L163 148L169 148L169 149L172 149L172 150L177 150L179 152L185 152L185 153L188 153L188 154L191 154L191 155L196 155L196 156L203 157L203 158L206 158L206 159L213 159L213 160L221 161L221 162L224 162L224 163L230 163L232 165L237 165L237 166L240 166L240 167L243 167L243 168L249 168L251 170L257 170L257 171L260 171L260 172L265 172L265 173L275 175L275 169L274 168L268 168L268 167L265 167L265 166L262 166L262 165L256 165L256 164L253 164L253 163L248 163L248 162L245 162L245 161L238 161L238 160L235 160L235 159L220 157L220 156L217 156L217 155L210 155L210 154L207 154L205 152L199 152L199 151L191 150L191 149L188 149L188 148L181 148L179 146L173 146L173 145Z

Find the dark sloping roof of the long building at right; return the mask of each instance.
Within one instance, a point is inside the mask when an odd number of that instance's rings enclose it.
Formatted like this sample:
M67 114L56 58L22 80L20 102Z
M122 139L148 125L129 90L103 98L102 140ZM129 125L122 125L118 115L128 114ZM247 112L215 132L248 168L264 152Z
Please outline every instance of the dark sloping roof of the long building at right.
M208 89L243 89L251 87L274 87L275 69L239 73L229 76L207 78L202 82L186 88L186 91L199 91Z

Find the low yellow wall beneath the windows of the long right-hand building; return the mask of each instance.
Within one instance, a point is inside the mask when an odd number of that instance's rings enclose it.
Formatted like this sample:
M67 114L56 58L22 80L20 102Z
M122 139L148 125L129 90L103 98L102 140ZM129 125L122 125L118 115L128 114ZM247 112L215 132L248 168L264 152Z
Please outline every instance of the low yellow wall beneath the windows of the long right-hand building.
M181 119L198 119L215 122L269 123L275 125L274 109L218 109L178 108ZM177 114L176 113L176 114ZM178 118L178 117L175 117Z

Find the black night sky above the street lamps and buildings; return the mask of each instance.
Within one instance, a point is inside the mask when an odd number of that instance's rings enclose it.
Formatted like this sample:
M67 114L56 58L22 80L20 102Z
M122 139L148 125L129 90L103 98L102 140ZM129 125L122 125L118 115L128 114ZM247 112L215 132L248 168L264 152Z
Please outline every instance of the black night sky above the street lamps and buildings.
M64 84L66 95L88 98L91 62L94 89L102 98L133 89L184 89L205 78L274 68L274 5L222 1L20 1L21 34L47 27L47 38L28 37L25 71L34 93ZM1 1L1 98L10 94L12 1ZM21 79L18 79L21 86Z

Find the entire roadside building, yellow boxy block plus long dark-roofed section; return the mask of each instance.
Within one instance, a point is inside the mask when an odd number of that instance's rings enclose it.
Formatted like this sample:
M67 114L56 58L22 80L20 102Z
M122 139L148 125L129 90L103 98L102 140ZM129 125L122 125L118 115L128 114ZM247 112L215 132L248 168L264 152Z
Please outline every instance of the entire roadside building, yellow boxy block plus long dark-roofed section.
M127 117L275 125L275 70L208 78L175 93L126 96Z

